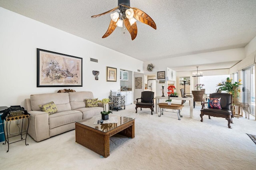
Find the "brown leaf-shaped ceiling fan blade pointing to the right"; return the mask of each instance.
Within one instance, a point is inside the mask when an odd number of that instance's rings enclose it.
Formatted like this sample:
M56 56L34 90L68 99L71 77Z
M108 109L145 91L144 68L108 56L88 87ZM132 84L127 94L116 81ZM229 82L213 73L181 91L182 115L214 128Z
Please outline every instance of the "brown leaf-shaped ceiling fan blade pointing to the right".
M150 18L150 16L148 16L148 14L146 14L145 12L143 12L138 8L133 8L133 9L134 9L134 18L136 20L144 24L147 24L156 30L156 23L152 20L152 18Z

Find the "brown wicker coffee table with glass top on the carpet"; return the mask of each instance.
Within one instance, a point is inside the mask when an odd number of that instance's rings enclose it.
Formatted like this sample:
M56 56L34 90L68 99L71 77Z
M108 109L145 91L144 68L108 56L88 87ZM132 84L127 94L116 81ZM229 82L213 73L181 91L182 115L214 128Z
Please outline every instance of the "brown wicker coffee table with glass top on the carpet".
M129 138L135 137L135 119L109 114L109 117L116 117L118 123L95 124L99 117L94 116L75 123L76 142L106 158L110 155L111 136L118 133Z

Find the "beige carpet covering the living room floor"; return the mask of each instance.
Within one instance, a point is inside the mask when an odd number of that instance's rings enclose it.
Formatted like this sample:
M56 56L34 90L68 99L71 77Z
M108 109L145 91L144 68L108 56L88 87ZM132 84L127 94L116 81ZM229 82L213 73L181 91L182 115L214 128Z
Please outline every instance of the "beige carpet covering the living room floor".
M175 101L173 101L175 103ZM180 101L176 101L180 103ZM224 118L204 116L200 105L189 118L188 102L178 121L176 113L158 117L150 109L135 113L135 105L126 106L117 115L136 118L135 138L116 135L111 138L110 156L102 158L75 143L75 130L41 142L28 137L7 146L0 144L0 169L19 170L253 170L256 145L246 133L255 134L253 116L233 119L232 128ZM170 111L170 110L169 110Z

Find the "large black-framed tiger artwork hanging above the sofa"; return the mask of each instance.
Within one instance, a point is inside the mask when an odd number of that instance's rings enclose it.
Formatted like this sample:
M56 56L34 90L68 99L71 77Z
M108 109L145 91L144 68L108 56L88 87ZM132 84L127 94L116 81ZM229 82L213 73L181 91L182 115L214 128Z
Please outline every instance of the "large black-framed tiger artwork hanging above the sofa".
M80 57L37 48L36 87L82 87Z

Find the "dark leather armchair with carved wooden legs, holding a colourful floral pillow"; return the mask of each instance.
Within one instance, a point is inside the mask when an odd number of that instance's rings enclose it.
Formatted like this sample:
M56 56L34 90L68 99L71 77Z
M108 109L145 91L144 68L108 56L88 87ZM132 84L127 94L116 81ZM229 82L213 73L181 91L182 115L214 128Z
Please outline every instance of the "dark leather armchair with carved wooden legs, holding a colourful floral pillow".
M213 117L223 117L228 121L228 128L231 128L230 123L232 122L233 116L233 106L232 106L232 95L229 93L212 93L209 96L209 99L211 98L218 98L220 99L220 109L218 108L204 108L204 104L207 102L202 103L202 109L201 109L201 122L203 121L203 116L208 115L209 119L210 116Z

